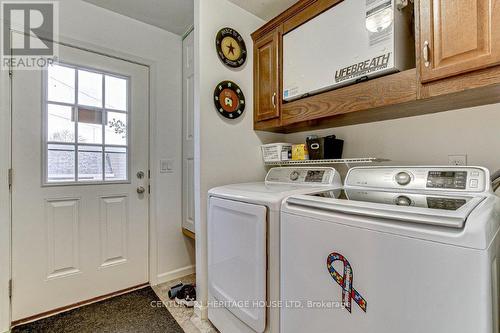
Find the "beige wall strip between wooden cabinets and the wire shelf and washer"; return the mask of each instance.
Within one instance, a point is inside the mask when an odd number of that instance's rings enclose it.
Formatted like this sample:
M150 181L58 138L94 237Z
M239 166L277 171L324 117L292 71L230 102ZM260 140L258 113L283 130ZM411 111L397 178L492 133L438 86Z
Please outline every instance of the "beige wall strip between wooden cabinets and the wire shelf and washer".
M448 164L448 155L467 154L469 165L500 169L500 104L418 117L286 135L305 141L308 134L335 134L344 157L381 157L386 164Z

